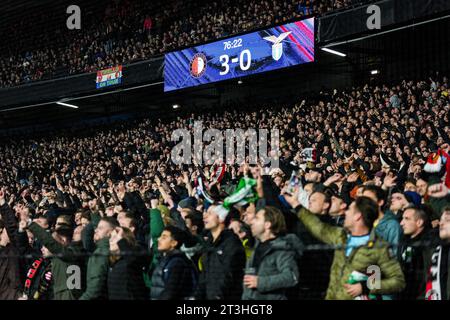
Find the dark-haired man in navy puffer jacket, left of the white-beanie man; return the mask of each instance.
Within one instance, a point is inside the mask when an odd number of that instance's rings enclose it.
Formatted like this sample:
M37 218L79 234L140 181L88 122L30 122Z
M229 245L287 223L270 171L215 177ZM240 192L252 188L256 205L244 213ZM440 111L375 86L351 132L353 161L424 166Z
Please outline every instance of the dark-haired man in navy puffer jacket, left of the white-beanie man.
M152 276L152 300L181 300L193 296L197 284L197 270L180 251L186 238L183 230L167 226L158 239L162 259Z

